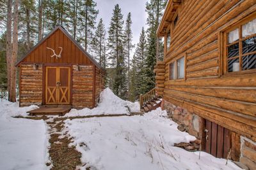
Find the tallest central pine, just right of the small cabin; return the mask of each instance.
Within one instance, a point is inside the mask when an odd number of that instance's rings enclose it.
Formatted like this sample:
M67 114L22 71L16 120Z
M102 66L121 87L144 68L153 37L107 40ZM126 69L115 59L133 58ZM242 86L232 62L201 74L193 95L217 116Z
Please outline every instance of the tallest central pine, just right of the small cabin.
M108 30L108 50L111 66L115 67L113 92L125 99L127 97L127 66L124 51L124 20L119 5L115 5Z

